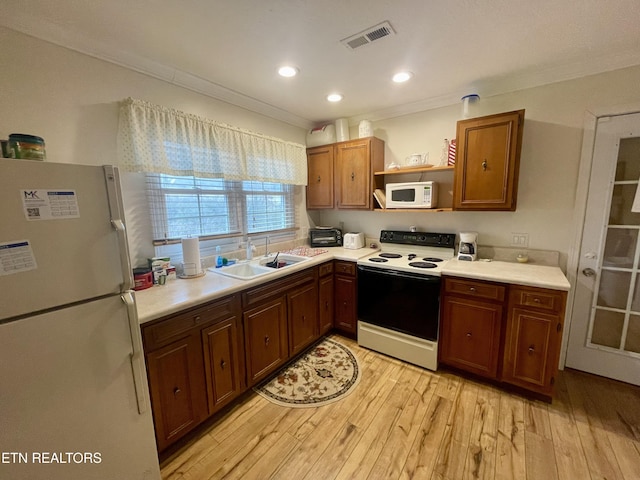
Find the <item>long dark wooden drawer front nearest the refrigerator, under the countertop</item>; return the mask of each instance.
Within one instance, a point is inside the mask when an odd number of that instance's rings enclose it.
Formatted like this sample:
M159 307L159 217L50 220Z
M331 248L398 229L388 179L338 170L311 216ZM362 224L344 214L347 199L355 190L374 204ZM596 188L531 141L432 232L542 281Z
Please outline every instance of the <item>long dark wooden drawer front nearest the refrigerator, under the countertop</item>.
M194 327L200 327L216 320L224 320L240 311L240 297L230 297L207 303L204 306L179 313L166 320L160 320L143 327L144 348L153 350L185 335Z

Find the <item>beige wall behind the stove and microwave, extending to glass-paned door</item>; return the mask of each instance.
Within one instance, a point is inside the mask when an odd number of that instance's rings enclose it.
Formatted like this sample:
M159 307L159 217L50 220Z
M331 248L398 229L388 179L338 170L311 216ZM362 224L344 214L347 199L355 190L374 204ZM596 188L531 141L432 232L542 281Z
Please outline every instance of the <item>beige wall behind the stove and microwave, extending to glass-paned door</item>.
M640 67L544 87L482 98L473 116L525 109L518 207L515 212L323 212L321 224L342 221L346 230L376 236L383 228L479 233L483 245L510 246L511 233L528 233L529 246L561 252L563 266L574 241L574 213L583 127L588 111L618 110L640 101ZM622 108L624 110L624 107ZM455 137L462 104L374 123L386 142L386 163L411 153L430 153L437 162L444 138ZM357 129L351 129L356 138ZM449 181L439 173L436 181ZM448 174L451 175L451 174ZM430 179L424 176L425 180Z

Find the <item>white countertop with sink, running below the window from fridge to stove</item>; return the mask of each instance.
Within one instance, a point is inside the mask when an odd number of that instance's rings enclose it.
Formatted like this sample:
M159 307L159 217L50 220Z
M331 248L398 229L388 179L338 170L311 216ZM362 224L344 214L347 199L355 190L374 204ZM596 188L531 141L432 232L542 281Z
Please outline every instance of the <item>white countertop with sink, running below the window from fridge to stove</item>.
M355 262L359 258L366 257L377 251L377 249L373 248L349 250L343 247L328 247L323 249L327 250L327 253L316 255L308 261L300 262L286 269L274 270L273 273L253 280L237 280L207 270L206 274L200 278L179 278L167 282L166 285L156 285L146 290L139 290L135 292L138 321L143 324L165 315L299 272L328 260L336 259Z

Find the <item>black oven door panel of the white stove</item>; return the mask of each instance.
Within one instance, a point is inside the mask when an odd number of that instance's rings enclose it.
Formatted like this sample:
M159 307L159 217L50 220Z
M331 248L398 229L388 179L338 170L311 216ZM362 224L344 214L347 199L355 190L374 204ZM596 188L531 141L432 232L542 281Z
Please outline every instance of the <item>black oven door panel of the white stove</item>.
M358 265L358 319L437 341L440 277Z

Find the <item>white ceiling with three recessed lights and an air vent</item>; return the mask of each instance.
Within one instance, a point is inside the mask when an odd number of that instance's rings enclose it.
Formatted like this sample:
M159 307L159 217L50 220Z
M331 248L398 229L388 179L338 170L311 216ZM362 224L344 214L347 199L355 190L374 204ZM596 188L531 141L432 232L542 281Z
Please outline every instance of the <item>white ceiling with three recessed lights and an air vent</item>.
M2 0L0 25L305 128L640 64L638 0Z

